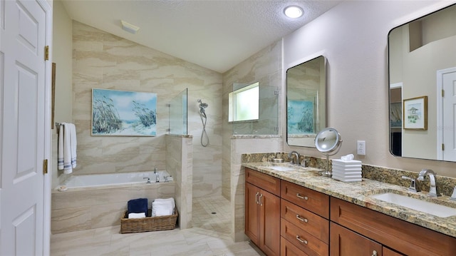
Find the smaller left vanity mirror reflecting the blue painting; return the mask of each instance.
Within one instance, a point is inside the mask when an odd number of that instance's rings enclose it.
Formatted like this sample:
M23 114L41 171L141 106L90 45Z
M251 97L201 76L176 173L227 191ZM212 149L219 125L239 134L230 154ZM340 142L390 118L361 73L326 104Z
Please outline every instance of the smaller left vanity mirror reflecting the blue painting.
M286 71L286 142L314 148L326 127L326 58L306 61Z

